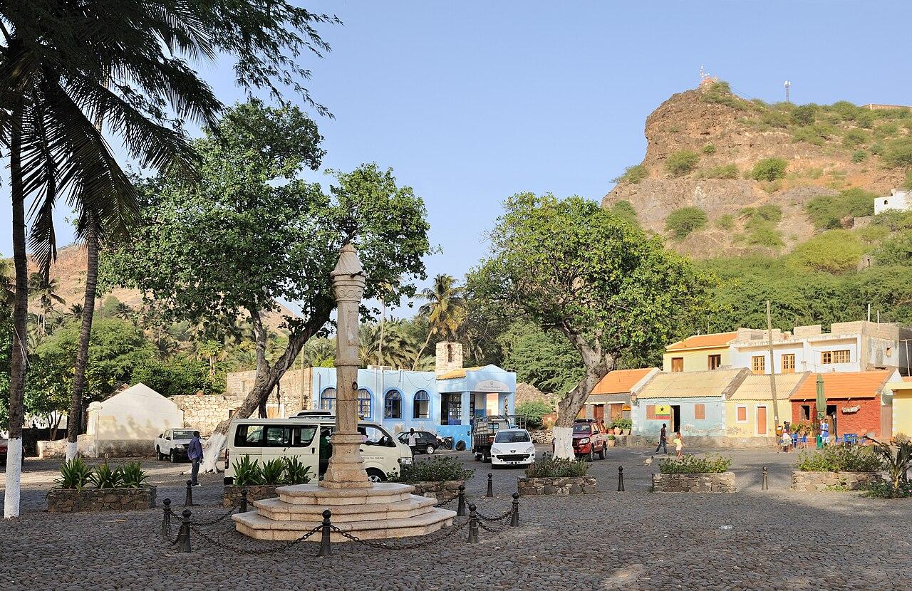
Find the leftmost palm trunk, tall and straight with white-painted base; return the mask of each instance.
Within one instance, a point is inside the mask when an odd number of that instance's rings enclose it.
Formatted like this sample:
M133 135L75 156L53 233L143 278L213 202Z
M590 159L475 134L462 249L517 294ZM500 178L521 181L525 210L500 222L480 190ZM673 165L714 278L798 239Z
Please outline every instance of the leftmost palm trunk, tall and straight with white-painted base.
M16 294L13 296L13 351L9 375L9 441L6 451L6 488L4 517L19 516L19 489L22 478L22 423L26 390L26 330L28 318L28 264L26 260L26 194L22 178L22 99L12 113L10 133L10 195L13 201L13 260L16 269Z

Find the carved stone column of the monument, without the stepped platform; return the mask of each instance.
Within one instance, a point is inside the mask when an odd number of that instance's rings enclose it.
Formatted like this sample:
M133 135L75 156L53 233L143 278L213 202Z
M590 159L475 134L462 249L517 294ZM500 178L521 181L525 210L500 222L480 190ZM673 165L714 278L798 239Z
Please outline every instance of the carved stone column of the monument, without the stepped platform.
M358 433L358 306L364 296L364 267L351 244L339 252L331 274L337 303L336 430L333 455L320 486L326 488L367 488L368 473L361 459Z

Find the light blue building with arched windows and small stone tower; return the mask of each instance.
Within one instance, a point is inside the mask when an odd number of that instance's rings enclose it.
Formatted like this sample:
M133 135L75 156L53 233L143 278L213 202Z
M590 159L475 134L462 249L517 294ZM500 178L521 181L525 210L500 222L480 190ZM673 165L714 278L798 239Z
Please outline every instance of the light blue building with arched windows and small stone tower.
M461 365L461 345L440 343L436 371L358 369L359 412L392 432L428 430L468 445L473 417L513 414L516 374ZM309 371L310 408L336 410L336 368Z

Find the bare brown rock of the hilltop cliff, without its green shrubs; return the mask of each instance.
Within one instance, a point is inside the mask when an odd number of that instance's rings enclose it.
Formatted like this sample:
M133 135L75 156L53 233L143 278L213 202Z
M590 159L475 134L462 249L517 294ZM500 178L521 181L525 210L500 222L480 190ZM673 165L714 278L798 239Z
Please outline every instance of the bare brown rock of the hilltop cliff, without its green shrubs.
M840 135L853 123L833 126L837 133L826 138L823 145L815 145L794 140L794 127L782 120L777 121L779 127L770 125L772 110L731 95L724 103L710 102L703 90L673 95L646 120L648 147L642 165L648 176L637 183L618 182L603 199L603 206L630 202L639 223L657 233L665 233L668 213L689 205L700 207L710 219L708 227L668 244L680 252L707 257L763 250L739 240L745 222L740 212L772 203L782 209L777 231L784 243L782 250L787 251L814 232L804 213L805 203L814 196L850 187L887 194L903 181L901 171L884 168L874 156L853 161L859 147L845 147ZM778 111L775 115L785 117ZM710 144L712 148L706 149ZM679 150L700 154L700 162L693 171L675 176L666 170L666 163L669 155ZM767 182L745 178L754 164L770 157L788 161L784 179ZM711 169L728 165L737 167L737 178L705 178L712 175ZM715 227L713 222L726 214L735 218L734 227Z

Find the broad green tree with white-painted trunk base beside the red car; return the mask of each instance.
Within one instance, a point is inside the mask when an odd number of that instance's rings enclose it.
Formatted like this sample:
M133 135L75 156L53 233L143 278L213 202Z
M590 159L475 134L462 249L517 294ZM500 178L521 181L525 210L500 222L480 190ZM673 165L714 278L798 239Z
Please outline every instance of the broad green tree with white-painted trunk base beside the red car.
M616 214L579 197L520 193L504 202L473 291L557 330L585 375L560 399L555 455L573 457L586 396L626 352L664 347L705 305L708 280Z

